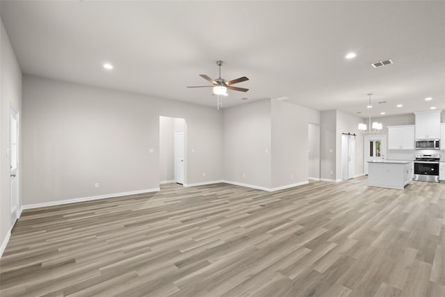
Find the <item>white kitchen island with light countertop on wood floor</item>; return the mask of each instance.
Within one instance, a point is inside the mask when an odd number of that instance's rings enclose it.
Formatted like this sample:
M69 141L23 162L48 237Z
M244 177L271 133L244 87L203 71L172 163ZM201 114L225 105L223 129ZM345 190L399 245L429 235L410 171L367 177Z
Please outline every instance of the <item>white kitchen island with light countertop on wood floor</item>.
M412 181L413 161L383 160L368 162L368 186L405 188Z

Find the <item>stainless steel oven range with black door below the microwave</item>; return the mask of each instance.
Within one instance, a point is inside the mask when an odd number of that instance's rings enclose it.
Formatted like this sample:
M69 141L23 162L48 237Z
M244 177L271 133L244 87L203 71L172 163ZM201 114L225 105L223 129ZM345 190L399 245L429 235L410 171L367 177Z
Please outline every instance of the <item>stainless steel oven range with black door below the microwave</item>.
M414 180L439 182L439 154L416 154Z

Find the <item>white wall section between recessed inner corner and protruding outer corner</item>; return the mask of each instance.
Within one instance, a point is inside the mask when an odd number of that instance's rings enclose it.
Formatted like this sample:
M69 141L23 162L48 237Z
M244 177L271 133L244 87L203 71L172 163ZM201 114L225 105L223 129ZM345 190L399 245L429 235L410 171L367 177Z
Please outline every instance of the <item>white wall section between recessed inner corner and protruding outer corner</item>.
M270 188L270 99L223 111L224 179Z

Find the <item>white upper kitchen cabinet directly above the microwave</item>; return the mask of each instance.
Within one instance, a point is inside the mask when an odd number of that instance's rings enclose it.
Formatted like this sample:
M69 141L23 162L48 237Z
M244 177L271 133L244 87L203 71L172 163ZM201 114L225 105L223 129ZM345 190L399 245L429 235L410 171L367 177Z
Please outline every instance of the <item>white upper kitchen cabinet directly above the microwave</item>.
M440 138L440 113L442 111L420 111L416 115L416 139Z

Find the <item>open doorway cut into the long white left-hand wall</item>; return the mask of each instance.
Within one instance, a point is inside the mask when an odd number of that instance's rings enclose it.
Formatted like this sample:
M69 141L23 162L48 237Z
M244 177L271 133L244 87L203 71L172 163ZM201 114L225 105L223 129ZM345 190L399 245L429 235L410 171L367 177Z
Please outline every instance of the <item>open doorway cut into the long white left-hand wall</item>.
M160 184L186 183L186 128L184 118L159 117Z

